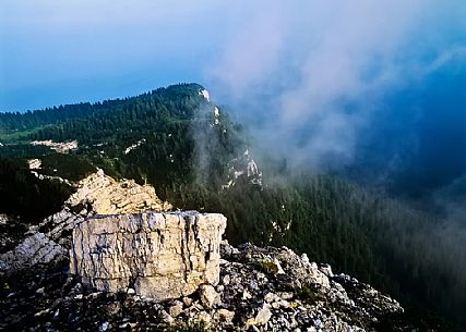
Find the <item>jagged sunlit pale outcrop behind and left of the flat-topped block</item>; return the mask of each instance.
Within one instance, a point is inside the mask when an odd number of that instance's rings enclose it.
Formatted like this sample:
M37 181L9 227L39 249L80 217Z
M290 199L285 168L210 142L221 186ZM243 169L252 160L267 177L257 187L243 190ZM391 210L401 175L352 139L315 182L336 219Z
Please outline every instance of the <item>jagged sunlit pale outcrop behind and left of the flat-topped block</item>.
M45 248L49 248L50 253L67 253L72 230L86 218L171 209L170 204L157 197L151 185L139 185L132 180L116 181L103 170L83 179L75 186L76 192L64 202L61 211L31 226L16 248L0 255L0 273L62 258L62 255L51 254L43 257L43 253L47 251Z

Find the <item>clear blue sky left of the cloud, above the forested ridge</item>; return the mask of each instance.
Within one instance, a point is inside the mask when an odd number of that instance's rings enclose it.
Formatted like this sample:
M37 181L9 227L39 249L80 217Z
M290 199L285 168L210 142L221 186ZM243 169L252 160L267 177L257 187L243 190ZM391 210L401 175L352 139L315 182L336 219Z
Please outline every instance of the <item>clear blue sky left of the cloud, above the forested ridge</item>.
M2 1L0 110L202 82L228 25L222 11L214 1Z

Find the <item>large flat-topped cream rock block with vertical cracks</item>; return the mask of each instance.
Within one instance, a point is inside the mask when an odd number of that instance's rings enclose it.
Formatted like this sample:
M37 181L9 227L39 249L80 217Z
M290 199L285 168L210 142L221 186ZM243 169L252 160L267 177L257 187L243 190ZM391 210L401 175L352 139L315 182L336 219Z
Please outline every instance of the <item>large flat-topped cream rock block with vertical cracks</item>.
M100 291L134 288L155 300L219 281L222 214L198 212L101 216L73 231L70 270Z

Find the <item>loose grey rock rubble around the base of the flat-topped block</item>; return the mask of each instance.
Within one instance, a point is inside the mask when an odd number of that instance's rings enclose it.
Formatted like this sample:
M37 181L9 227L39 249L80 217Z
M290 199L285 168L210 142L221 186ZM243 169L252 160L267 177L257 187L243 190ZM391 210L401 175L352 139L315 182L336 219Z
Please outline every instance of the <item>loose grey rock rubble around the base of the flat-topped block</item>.
M150 218L147 218L148 220ZM8 331L413 331L391 297L282 247L220 244L219 282L163 302L105 292L67 259L2 280ZM72 263L73 265L73 263Z

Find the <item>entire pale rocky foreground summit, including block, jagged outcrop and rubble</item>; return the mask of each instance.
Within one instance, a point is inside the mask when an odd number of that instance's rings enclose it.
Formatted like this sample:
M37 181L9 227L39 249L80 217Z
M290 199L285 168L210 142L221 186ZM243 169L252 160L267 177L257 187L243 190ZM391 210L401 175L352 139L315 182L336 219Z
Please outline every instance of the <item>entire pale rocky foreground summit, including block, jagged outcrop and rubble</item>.
M234 247L222 214L170 208L103 171L79 182L0 254L0 331L423 331L328 265Z

